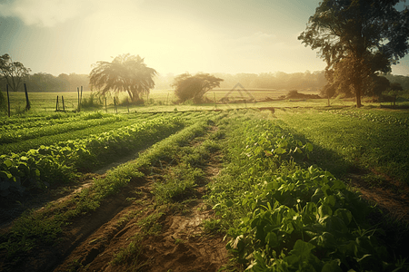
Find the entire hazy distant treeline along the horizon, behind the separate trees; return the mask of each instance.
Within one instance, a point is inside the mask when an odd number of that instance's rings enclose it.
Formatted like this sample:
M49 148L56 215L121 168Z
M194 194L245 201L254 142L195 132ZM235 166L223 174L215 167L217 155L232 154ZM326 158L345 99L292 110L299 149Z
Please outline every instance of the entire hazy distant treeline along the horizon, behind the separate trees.
M241 83L244 88L250 89L277 89L298 90L300 92L320 92L327 83L324 71L311 73L212 73L224 79L220 84L222 89L231 89L236 83ZM159 74L155 77L156 90L172 89L177 74ZM384 75L390 83L400 83L404 90L409 90L409 76L387 74ZM83 86L84 91L89 91L88 74L61 73L54 76L50 73L30 74L24 81L29 92L75 92L77 87ZM0 89L5 91L5 79L0 77ZM23 87L21 90L23 91Z

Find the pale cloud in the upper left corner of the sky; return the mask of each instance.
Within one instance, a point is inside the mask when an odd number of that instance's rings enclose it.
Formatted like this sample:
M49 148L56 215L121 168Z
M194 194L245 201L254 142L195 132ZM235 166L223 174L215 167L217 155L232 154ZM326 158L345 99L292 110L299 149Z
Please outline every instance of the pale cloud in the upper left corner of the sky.
M15 0L0 4L0 16L20 18L27 25L52 27L79 15L126 10L130 0Z

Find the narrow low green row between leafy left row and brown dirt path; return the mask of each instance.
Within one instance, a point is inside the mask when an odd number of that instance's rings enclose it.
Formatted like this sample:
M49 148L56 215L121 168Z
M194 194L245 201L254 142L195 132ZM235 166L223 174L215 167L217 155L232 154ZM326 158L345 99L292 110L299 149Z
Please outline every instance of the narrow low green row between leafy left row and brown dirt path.
M90 188L76 193L75 198L50 205L48 208L52 212L48 212L47 209L39 212L30 211L16 219L10 231L0 235L0 249L6 249L7 257L18 257L22 252L33 250L39 244L55 243L56 234L62 231L70 219L96 209L103 199L124 188L133 179L143 176L141 171L149 172L151 165L157 164L159 160L162 163L164 160L171 162L173 158L181 156L180 147L203 135L210 120L215 118L209 113L194 115L196 116L194 123L187 124L181 131L156 142L136 160L108 171L105 178L96 179ZM58 216L55 216L55 206L62 211Z

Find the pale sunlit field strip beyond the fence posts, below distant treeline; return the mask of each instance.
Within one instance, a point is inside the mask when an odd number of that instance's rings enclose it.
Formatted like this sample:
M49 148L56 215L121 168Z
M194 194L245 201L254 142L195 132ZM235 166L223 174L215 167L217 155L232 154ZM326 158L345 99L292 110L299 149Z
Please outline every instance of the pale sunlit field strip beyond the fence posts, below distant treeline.
M172 112L175 111L201 111L201 110L231 110L241 108L259 108L259 107L294 107L298 106L300 100L278 100L288 92L285 90L214 90L205 93L208 103L195 105L192 103L175 104L177 98L172 90L154 90L149 96L144 96L144 105L126 105L125 93L121 93L118 97L119 105L115 107L114 98L107 97L106 107L105 101L102 101L100 106L83 106L85 111L101 111L108 113L128 113L128 112ZM309 94L317 94L316 92L305 92ZM4 95L6 96L5 92ZM62 96L65 101L65 111L75 112L78 108L78 93L77 92L29 92L29 100L31 104L31 111L40 113L55 112L56 98L59 99L59 109L63 109ZM83 92L82 102L89 102L92 92ZM216 103L214 104L214 98ZM224 98L228 98L230 103L224 102ZM251 99L254 98L254 101ZM272 101L273 100L273 101ZM97 97L94 96L93 101L97 102ZM312 99L303 100L304 106L317 107L326 106L328 101L326 99ZM25 112L25 93L24 92L10 92L11 115L21 114ZM404 102L401 102L401 104ZM118 104L118 102L116 102ZM351 106L354 101L334 99L331 100L333 106ZM380 103L366 102L367 105L379 106ZM390 104L390 103L384 103Z

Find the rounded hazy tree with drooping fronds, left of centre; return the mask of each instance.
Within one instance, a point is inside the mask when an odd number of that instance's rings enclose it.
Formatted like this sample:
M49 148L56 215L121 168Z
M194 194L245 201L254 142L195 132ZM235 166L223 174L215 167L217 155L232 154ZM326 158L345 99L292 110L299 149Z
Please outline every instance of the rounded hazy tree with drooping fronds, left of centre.
M111 62L97 62L89 74L91 86L99 93L127 92L132 102L141 100L140 96L155 87L153 77L156 71L144 63L139 55L121 54Z

